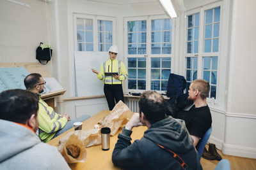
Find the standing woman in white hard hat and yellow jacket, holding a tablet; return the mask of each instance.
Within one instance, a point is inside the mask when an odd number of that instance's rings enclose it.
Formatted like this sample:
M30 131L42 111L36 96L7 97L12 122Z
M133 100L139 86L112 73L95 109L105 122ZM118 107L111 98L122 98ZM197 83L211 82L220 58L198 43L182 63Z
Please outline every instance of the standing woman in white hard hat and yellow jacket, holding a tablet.
M92 72L97 74L97 78L104 82L104 94L108 101L109 110L115 107L115 101L124 102L124 92L122 81L127 79L128 73L125 69L124 62L116 60L118 48L112 45L109 48L109 60L103 62L100 66L100 72L92 69Z

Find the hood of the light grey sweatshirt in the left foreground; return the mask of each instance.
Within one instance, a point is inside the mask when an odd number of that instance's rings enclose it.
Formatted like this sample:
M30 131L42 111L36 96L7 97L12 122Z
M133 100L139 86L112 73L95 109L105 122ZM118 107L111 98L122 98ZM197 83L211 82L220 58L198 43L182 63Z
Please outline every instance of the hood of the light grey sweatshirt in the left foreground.
M0 163L8 161L14 155L26 152L41 143L38 136L22 125L0 120Z

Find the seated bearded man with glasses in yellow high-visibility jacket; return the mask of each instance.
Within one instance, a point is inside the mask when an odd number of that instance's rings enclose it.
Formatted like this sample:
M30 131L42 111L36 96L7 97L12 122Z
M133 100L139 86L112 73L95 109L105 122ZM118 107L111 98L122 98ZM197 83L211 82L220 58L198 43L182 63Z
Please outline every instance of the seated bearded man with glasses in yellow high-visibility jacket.
M44 78L38 73L32 73L26 76L24 84L27 90L35 94L44 92ZM56 113L51 106L48 106L39 95L39 137L42 141L47 142L59 136L63 132L68 131L73 127L74 122L83 122L90 116L83 115L74 120L70 120L70 116L64 113L60 115Z

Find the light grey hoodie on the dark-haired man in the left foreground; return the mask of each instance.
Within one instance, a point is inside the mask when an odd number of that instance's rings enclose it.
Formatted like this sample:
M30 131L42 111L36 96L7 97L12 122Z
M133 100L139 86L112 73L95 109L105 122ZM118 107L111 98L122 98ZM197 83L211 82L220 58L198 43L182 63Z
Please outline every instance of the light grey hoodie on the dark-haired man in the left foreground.
M0 120L0 169L70 169L54 146L22 125Z

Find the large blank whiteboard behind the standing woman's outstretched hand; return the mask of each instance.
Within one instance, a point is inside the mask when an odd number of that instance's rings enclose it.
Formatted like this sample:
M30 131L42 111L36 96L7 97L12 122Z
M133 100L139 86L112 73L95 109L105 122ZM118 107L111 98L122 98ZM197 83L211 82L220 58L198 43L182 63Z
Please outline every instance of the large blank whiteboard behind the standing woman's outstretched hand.
M76 96L104 95L104 82L92 68L100 71L100 65L109 59L108 52L75 52Z

